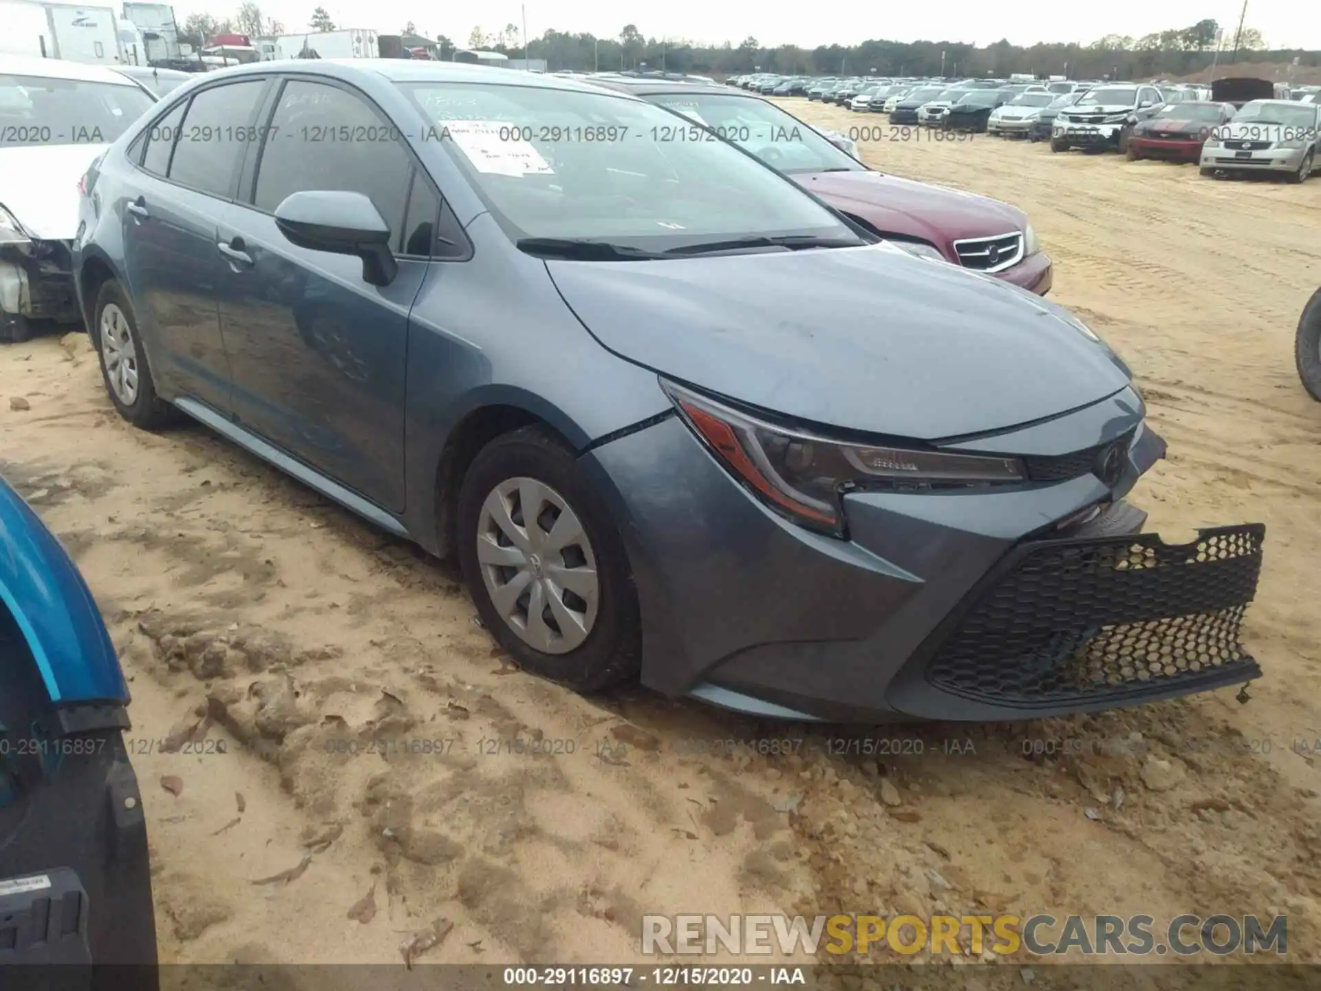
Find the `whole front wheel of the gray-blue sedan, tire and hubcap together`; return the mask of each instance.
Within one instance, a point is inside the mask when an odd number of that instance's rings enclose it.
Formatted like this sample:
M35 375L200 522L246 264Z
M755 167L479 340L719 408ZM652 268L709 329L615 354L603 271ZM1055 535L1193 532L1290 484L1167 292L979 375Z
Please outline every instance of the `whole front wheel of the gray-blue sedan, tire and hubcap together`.
M482 624L519 667L581 692L637 674L624 542L553 433L524 427L482 448L458 492L456 536Z

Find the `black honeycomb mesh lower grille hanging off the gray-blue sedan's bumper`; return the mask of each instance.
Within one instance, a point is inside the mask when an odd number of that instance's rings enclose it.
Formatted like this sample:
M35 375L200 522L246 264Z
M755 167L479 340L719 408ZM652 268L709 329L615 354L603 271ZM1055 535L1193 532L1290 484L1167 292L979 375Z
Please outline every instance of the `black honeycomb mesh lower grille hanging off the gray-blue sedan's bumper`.
M945 691L1018 707L1120 700L1260 674L1239 643L1266 527L1020 547L927 665Z

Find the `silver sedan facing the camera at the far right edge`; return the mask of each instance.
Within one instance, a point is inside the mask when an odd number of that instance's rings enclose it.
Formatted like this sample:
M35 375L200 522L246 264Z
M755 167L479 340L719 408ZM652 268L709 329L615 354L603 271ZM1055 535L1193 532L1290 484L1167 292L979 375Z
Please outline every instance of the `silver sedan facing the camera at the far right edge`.
M1203 176L1268 173L1305 182L1321 166L1321 106L1252 100L1202 145Z

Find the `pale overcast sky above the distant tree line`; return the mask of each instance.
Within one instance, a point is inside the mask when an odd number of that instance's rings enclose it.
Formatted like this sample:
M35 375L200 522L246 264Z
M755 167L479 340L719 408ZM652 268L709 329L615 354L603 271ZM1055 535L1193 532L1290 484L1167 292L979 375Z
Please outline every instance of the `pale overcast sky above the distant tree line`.
M231 13L240 0L180 0L176 18L189 13ZM281 20L289 33L304 30L316 0L258 0L267 17ZM328 0L336 26L399 32L412 21L429 37L445 34L461 45L474 26L487 33L506 24L522 28L517 0L482 0L473 4L436 4L421 0ZM1155 30L1186 28L1206 17L1232 32L1242 3L1235 0L1103 0L1083 3L1007 4L985 0L937 0L937 3L806 4L801 0L717 4L711 0L657 0L655 3L609 3L608 0L535 0L526 4L527 32L540 36L548 28L618 37L625 24L635 24L647 37L687 38L697 42L737 45L749 34L765 46L795 44L803 48L857 44L867 38L896 41L962 41L988 45L1008 38L1015 45L1037 41L1090 42L1103 34L1140 37ZM875 9L873 20L868 9ZM1247 26L1256 28L1271 45L1321 49L1321 9L1316 0L1250 0Z

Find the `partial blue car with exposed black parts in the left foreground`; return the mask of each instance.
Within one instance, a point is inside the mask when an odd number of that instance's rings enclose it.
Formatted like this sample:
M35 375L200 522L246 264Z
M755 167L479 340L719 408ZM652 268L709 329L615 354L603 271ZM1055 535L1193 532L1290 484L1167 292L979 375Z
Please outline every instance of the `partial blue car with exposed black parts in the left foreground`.
M120 986L157 986L127 703L78 568L0 480L0 975L13 987L45 986L54 971L37 967L52 963L116 965Z

